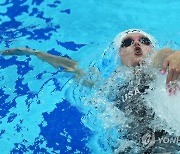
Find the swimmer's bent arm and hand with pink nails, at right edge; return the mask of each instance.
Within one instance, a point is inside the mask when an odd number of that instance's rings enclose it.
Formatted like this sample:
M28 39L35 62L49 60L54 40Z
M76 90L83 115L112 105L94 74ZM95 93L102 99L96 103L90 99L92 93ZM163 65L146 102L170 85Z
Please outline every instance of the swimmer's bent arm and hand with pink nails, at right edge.
M179 80L180 75L180 51L173 51L170 48L159 50L153 57L153 65L161 68L161 73L164 74L168 70L166 83Z

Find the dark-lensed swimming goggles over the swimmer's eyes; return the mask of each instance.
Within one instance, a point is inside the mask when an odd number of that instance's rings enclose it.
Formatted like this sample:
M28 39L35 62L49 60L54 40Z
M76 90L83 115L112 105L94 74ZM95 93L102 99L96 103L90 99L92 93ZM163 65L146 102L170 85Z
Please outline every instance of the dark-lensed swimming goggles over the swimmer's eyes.
M121 44L121 47L122 48L126 48L126 47L129 47L130 45L132 45L134 43L134 41L137 40L137 37L134 39L134 38L126 38L122 41L122 44ZM151 41L149 40L149 38L147 37L144 37L144 36L140 36L138 37L138 41L142 44L145 44L145 45L150 45L152 44Z

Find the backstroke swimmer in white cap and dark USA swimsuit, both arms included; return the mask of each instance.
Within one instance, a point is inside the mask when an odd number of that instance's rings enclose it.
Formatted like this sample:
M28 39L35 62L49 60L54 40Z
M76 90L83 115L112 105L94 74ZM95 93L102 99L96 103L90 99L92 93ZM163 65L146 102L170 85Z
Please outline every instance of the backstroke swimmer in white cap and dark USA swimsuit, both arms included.
M122 63L130 68L138 68L141 66L148 55L155 50L155 39L151 35L138 29L130 29L118 34L113 44ZM166 84L179 80L180 51L164 48L155 53L156 54L152 56L152 67L160 68L162 74L168 71ZM76 79L80 79L85 74L83 70L77 67L78 62L38 50L14 48L1 51L1 55L34 55L48 62L55 68L62 67L65 71L74 73ZM137 69L137 72L138 71L139 69ZM136 77L138 80L136 80ZM149 84L153 79L153 76L142 73L140 70L139 74L135 74L135 78L127 81L124 85L117 86L117 95L113 100L115 102L114 106L123 111L128 119L131 119L127 122L126 132L121 131L121 133L124 133L123 135L126 139L139 142L144 133L153 130L150 124L151 121L154 120L155 114L153 109L147 106L144 99L146 90L149 89ZM91 87L94 83L85 81L83 84ZM138 89L135 89L135 87ZM156 137L161 137L166 134L167 132L163 129L155 131ZM148 151L144 149L142 149L142 151L143 153L151 153L154 152L157 147L164 148L163 145L155 145L151 149L148 149ZM173 150L180 150L176 145L169 145L165 148L169 147L173 148ZM123 152L130 153L131 150L131 147L127 147Z

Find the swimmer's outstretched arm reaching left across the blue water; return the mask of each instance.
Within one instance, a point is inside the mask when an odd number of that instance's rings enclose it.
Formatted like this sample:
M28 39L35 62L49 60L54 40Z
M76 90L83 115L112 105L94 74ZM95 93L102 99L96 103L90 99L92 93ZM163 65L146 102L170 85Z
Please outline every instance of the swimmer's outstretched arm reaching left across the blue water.
M74 73L75 80L79 82L81 78L85 75L84 71L77 67L78 62L71 60L66 57L55 56L46 52L42 52L39 50L32 50L29 48L13 48L7 49L0 52L3 56L22 56L22 55L34 55L55 67L56 69L59 67L64 68L64 71ZM84 79L81 83L82 85L92 88L94 86L94 82Z

